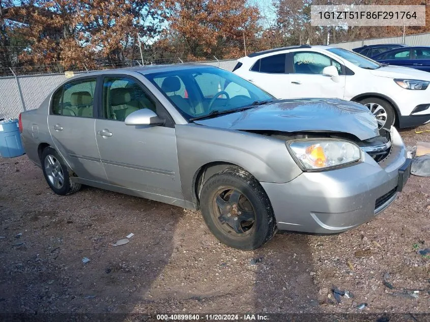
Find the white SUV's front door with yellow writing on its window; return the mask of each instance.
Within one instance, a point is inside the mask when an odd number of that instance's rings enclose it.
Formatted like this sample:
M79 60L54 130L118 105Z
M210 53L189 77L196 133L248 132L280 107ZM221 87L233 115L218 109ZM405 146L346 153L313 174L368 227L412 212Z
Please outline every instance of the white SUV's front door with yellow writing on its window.
M341 98L345 93L345 72L333 58L314 51L293 51L288 55L292 72L286 75L291 91L288 98ZM325 67L334 66L338 76L323 74ZM280 94L280 93L279 93Z

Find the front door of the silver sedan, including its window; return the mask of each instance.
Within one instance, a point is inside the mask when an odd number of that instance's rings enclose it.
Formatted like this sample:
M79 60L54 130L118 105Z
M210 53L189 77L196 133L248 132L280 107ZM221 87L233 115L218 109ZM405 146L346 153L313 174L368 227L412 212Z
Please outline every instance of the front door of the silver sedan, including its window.
M101 161L110 184L162 200L161 196L183 199L179 179L176 135L173 123L164 126L129 126L124 120L149 108L164 118L162 106L138 80L104 77L101 111L96 120L96 138Z

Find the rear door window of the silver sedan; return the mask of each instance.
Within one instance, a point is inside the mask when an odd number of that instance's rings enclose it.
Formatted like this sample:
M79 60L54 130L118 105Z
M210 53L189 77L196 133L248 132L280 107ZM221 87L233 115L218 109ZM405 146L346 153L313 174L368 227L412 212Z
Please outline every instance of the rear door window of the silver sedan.
M96 79L82 79L65 84L52 96L51 110L53 114L93 117L94 90Z

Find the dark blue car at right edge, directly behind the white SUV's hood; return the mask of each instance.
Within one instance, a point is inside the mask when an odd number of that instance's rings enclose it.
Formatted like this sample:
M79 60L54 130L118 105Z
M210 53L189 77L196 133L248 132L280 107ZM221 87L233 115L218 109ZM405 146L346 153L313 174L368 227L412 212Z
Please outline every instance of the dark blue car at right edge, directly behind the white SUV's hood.
M381 64L411 67L430 72L430 46L392 49L372 57Z

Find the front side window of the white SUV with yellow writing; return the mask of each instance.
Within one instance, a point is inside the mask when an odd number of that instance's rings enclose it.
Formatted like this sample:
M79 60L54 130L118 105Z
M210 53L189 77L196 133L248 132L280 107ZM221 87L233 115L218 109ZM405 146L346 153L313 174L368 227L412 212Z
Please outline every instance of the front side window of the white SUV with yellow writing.
M296 52L294 53L294 72L296 74L322 74L327 66L335 66L337 73L342 73L338 62L318 52Z

